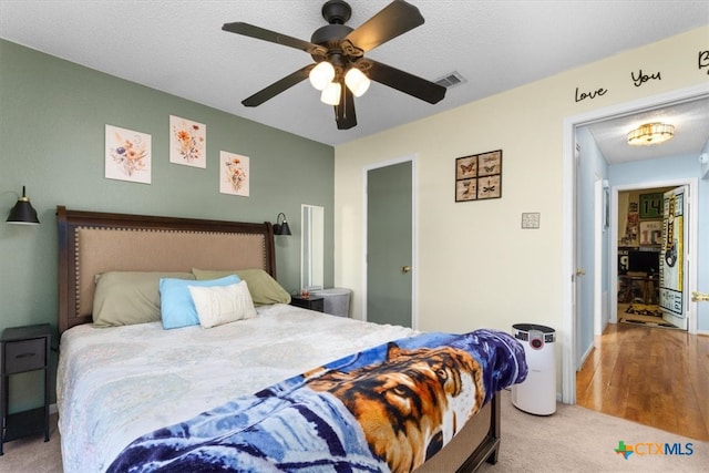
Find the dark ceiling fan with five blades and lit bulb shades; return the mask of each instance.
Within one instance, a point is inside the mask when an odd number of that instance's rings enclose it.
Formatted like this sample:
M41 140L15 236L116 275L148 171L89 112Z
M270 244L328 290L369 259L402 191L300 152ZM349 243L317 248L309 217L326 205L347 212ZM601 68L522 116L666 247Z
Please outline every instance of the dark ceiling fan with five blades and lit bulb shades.
M225 23L224 31L296 48L315 60L242 103L258 106L309 78L311 84L322 91L320 100L335 106L337 127L349 130L357 125L353 97L367 91L370 80L432 104L443 100L445 88L442 85L364 58L366 52L423 24L418 8L394 0L357 29L345 25L351 13L346 1L327 1L322 6L322 18L328 24L317 29L309 42L248 23Z

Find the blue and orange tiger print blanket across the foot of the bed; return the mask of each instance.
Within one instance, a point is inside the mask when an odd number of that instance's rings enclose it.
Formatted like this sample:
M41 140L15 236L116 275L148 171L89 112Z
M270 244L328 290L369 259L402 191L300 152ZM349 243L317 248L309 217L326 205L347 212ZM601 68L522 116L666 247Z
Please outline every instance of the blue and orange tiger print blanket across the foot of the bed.
M400 339L143 435L109 472L411 471L526 374L501 331Z

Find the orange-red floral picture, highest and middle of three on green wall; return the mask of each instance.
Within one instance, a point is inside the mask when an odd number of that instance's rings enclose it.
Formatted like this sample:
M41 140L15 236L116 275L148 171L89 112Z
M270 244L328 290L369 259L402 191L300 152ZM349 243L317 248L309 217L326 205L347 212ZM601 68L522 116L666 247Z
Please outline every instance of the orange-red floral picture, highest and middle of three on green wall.
M207 167L207 126L169 115L169 162L193 167Z

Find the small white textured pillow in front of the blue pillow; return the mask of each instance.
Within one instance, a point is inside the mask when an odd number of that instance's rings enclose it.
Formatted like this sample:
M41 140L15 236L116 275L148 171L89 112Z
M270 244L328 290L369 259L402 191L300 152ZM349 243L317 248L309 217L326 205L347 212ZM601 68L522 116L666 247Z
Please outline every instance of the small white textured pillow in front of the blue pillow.
M199 325L205 328L256 317L246 281L229 286L187 286L197 309Z

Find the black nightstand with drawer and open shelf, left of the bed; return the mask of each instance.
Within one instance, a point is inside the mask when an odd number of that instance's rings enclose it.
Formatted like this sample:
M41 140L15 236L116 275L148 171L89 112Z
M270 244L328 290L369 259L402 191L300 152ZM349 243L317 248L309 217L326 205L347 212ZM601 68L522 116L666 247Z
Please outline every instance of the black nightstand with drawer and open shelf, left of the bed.
M49 441L49 323L4 329L0 337L0 455L4 442L44 432ZM44 371L44 405L28 411L8 413L10 376L28 371Z

